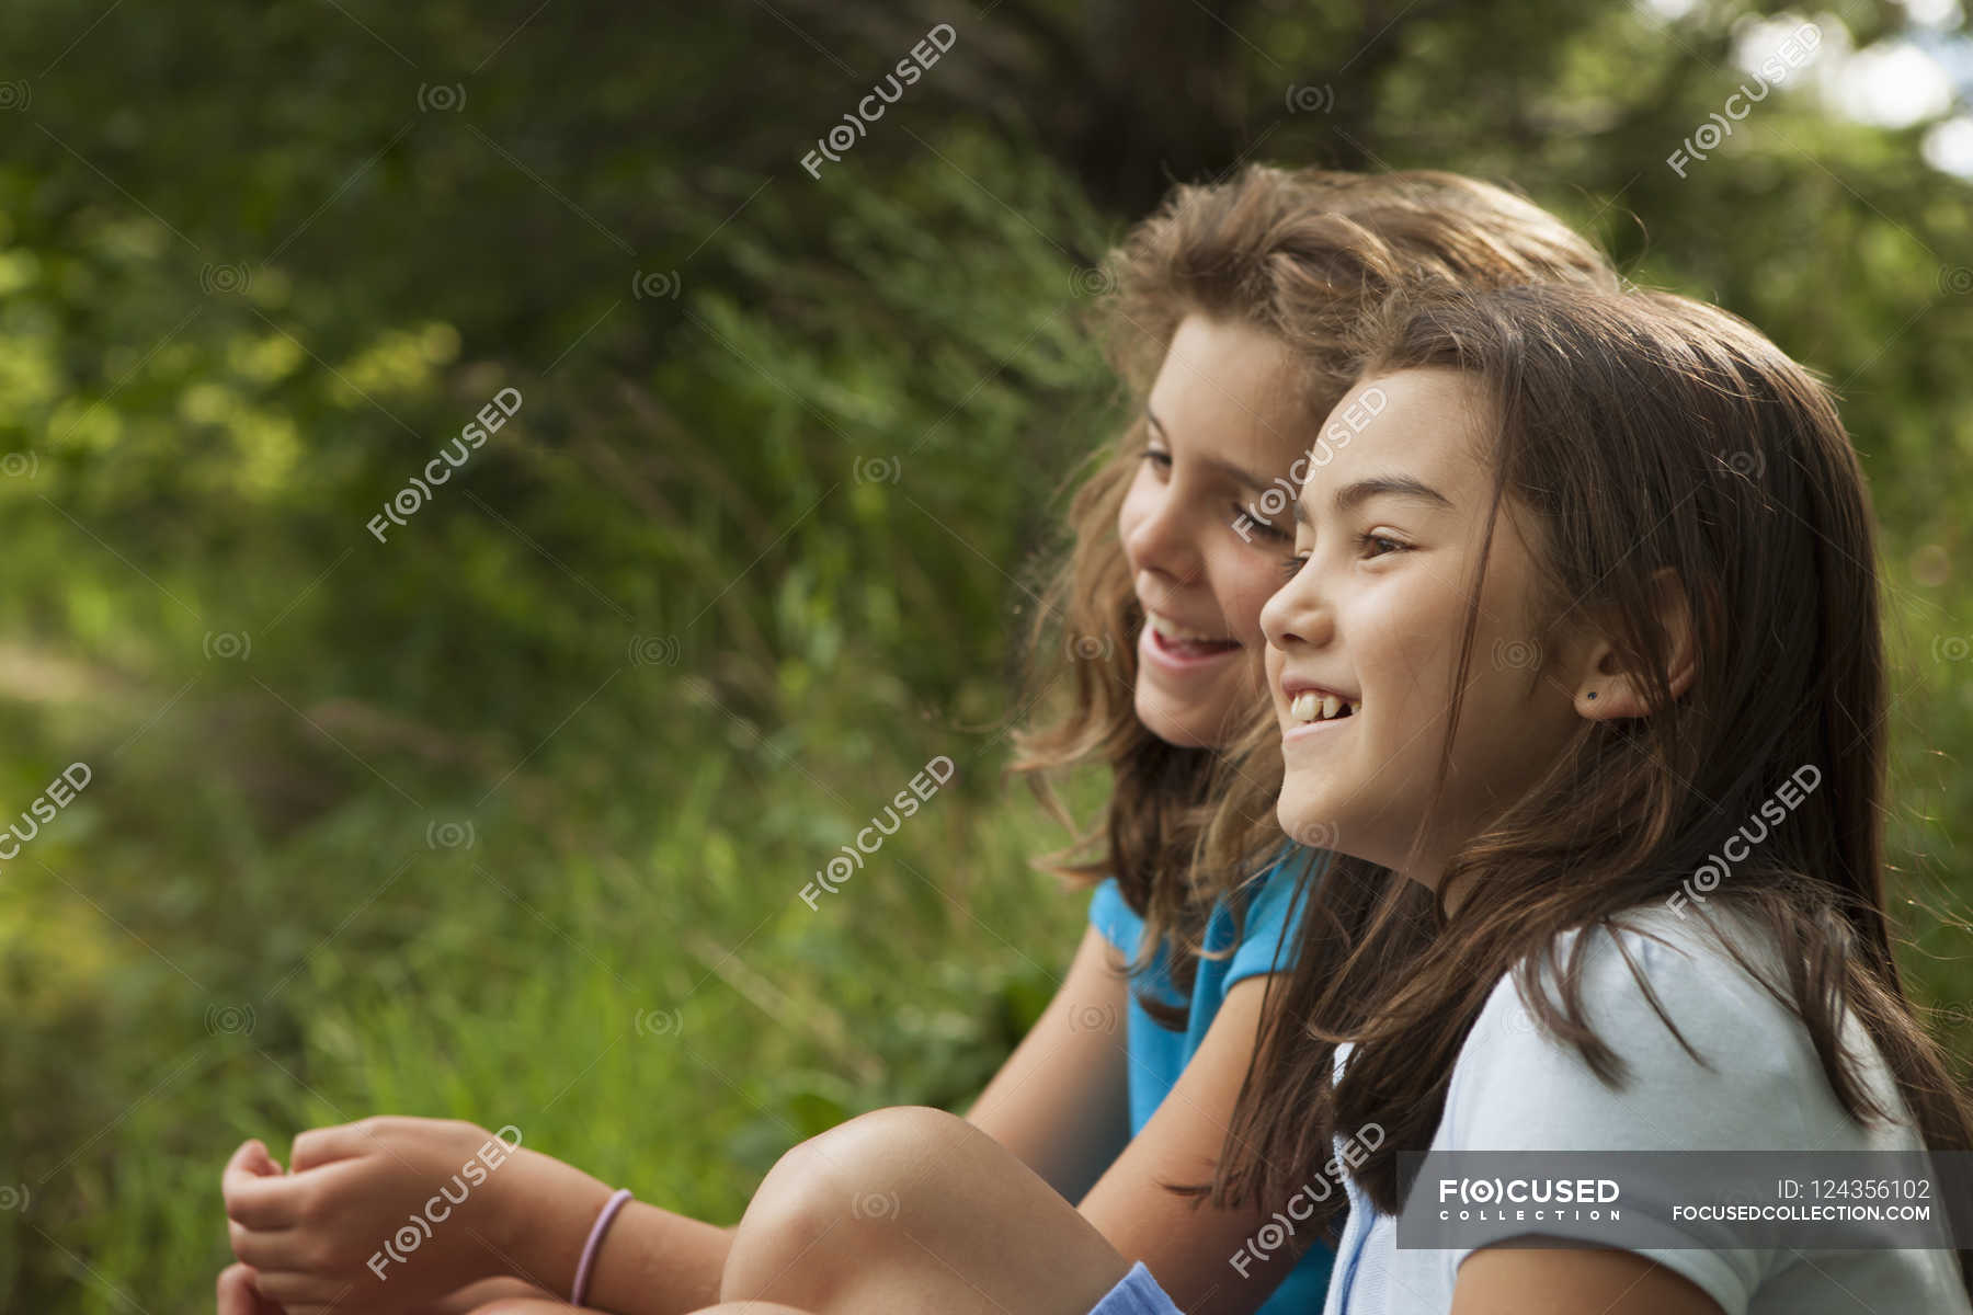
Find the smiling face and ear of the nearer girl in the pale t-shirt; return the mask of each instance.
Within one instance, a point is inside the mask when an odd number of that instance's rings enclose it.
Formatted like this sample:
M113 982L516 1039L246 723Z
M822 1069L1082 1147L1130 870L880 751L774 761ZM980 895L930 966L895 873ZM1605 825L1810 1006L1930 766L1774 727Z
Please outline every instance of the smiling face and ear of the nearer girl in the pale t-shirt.
M1294 507L1300 568L1261 611L1282 828L1430 887L1578 726L1563 672L1578 672L1580 655L1533 623L1535 558L1509 501L1486 554L1446 793L1430 804L1494 497L1488 416L1480 386L1452 371L1359 382L1324 426ZM1324 716L1326 698L1350 716Z

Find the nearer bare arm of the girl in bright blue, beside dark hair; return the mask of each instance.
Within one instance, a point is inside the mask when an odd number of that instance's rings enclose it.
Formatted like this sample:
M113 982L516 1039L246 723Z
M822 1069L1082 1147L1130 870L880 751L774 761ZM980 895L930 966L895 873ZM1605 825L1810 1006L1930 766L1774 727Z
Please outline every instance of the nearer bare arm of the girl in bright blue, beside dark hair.
M1263 1252L1261 1260L1249 1254L1241 1274L1231 1258L1273 1212L1194 1209L1160 1187L1211 1181L1253 1057L1265 988L1267 978L1255 976L1227 992L1164 1104L1079 1207L1111 1246L1127 1260L1142 1260L1178 1309L1194 1315L1251 1315L1300 1258L1296 1246Z

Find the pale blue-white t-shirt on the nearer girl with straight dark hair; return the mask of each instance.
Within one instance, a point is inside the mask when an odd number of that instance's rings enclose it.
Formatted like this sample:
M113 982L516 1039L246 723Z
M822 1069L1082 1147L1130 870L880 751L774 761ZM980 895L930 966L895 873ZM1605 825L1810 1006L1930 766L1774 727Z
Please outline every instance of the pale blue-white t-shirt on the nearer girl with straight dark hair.
M1750 921L1717 915L1768 976L1786 982L1782 956ZM1582 933L1565 933L1567 948ZM1861 1057L1864 1080L1896 1124L1861 1128L1837 1104L1801 1019L1736 964L1697 917L1659 905L1628 911L1618 929L1590 933L1582 956L1582 1004L1590 1025L1630 1065L1630 1080L1606 1086L1574 1045L1549 1035L1503 974L1452 1065L1446 1108L1432 1151L1918 1151L1924 1147L1884 1059L1855 1011L1843 1045ZM1705 1057L1701 1067L1665 1029L1630 972ZM1553 976L1551 1000L1559 1000ZM1336 1047L1342 1080L1353 1047ZM1336 1142L1338 1153L1344 1142ZM1383 1214L1348 1173L1350 1222L1326 1315L1444 1315L1458 1268L1474 1248L1397 1246L1397 1218ZM1657 1185L1626 1183L1630 1199ZM1677 1201L1677 1185L1665 1185ZM1486 1232L1507 1240L1543 1232L1584 1242L1600 1224L1519 1222ZM1689 1224L1677 1246L1636 1248L1683 1274L1726 1315L1861 1315L1924 1311L1967 1315L1959 1262L1949 1250L1756 1250L1734 1246L1736 1224ZM1866 1293L1866 1297L1859 1297Z

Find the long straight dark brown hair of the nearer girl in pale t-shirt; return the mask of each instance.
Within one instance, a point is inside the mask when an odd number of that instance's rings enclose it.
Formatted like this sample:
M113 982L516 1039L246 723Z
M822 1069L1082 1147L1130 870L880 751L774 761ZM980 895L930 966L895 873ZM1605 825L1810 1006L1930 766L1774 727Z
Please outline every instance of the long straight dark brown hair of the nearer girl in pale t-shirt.
M1819 789L1691 907L1707 923L1732 911L1772 934L1786 982L1754 976L1801 1017L1853 1118L1890 1110L1839 1045L1845 1009L1882 1053L1926 1143L1969 1149L1973 1112L1892 954L1874 526L1829 392L1744 321L1669 294L1448 294L1391 310L1365 351L1365 379L1454 369L1490 396L1490 540L1503 513L1527 532L1543 627L1594 615L1644 678L1649 714L1582 722L1551 771L1464 844L1436 893L1338 858L1310 891L1300 958L1271 1004L1215 1199L1292 1191L1332 1159L1332 1136L1377 1124L1385 1136L1355 1179L1379 1211L1397 1212L1397 1153L1430 1145L1460 1047L1509 972L1541 1023L1620 1082L1620 1055L1584 1023L1588 936L1567 962L1557 936L1622 927L1624 911L1671 899L1803 765L1821 771ZM1657 621L1667 572L1697 655L1677 698ZM1450 726L1478 595L1474 580ZM1442 755L1440 791L1448 767ZM1462 899L1448 917L1454 885ZM1724 936L1722 948L1754 970ZM1344 1039L1350 1065L1334 1082ZM1969 1252L1961 1270L1973 1287Z

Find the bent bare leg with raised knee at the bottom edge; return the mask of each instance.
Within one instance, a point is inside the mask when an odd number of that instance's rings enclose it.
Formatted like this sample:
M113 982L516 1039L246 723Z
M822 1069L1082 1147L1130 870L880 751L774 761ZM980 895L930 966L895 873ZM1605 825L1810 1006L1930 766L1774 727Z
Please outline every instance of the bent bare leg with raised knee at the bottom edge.
M898 1108L775 1163L740 1220L720 1297L815 1315L1085 1315L1129 1270L985 1132Z

